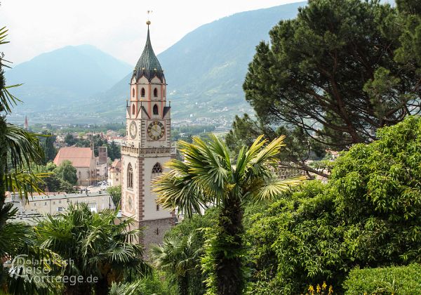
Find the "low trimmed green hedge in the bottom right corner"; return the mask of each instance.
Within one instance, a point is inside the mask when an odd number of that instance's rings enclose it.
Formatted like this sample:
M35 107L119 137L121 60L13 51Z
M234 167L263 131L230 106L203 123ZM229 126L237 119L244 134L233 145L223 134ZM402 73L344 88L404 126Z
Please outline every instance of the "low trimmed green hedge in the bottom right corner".
M344 282L345 294L415 294L421 290L421 265L355 268Z

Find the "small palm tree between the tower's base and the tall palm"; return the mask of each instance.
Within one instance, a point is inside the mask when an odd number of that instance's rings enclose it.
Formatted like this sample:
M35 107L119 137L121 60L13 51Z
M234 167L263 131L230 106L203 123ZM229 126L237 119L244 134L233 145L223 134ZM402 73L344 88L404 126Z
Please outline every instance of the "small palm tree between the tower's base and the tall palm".
M189 273L200 265L202 249L194 244L194 233L187 237L165 237L162 246L153 244L151 259L156 266L171 274L180 295L189 294Z

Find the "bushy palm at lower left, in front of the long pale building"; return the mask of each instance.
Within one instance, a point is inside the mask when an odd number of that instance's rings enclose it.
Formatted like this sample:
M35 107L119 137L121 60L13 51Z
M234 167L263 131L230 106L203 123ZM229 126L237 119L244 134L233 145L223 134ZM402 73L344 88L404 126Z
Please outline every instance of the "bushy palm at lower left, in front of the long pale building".
M139 230L128 230L132 218L116 223L118 209L92 212L88 204L74 206L58 216L47 215L36 225L40 246L69 262L65 275L81 275L85 282L65 284L65 294L107 294L112 282L123 280L126 272L145 276L151 268L142 259L143 249L134 243ZM86 282L98 277L98 282Z

